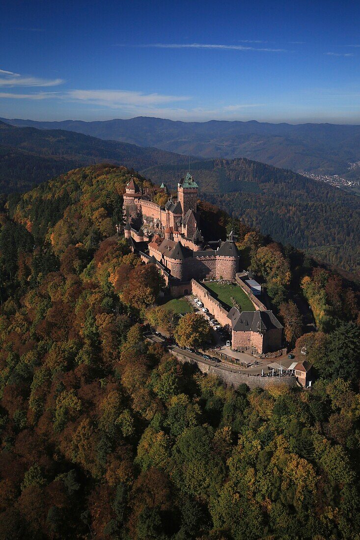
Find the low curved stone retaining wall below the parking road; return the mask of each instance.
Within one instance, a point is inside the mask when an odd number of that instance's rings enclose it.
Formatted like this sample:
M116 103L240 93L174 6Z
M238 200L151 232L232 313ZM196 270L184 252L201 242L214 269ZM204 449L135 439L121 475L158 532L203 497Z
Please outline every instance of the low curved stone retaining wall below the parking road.
M217 375L227 386L232 386L234 388L238 388L241 384L247 384L250 388L269 388L270 386L282 386L283 384L290 387L297 386L296 377L294 376L281 377L278 379L278 377L257 377L255 375L244 373L232 373L216 366L209 366L201 360L193 360L174 350L170 349L169 352L176 356L179 362L196 364L202 373Z

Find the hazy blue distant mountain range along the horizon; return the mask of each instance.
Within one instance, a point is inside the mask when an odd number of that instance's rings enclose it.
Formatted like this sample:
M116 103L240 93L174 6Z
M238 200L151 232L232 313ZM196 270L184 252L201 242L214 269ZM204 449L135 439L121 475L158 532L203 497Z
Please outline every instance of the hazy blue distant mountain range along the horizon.
M360 160L360 125L174 122L150 117L103 122L2 120L16 126L70 130L204 158L245 157L297 172L345 174L349 163Z

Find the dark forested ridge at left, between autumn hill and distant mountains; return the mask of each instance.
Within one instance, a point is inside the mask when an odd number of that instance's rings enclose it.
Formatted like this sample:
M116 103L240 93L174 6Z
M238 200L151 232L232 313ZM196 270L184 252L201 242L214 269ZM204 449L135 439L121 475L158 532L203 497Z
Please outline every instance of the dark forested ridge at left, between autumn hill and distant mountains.
M156 148L104 141L63 130L37 130L0 122L0 193L26 191L81 165L107 161L141 170L188 158Z

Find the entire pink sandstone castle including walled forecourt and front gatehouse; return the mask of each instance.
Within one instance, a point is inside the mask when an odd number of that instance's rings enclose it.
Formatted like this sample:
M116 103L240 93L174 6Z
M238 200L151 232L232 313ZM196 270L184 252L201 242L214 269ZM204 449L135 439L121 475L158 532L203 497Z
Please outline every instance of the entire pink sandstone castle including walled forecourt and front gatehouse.
M262 302L254 297L255 312L240 313L236 307L228 312L199 283L205 278L234 282L245 273L236 275L239 252L232 231L226 241L205 240L199 231L197 194L190 173L178 183L176 198L169 197L164 184L142 188L132 178L123 195L125 238L144 262L158 267L173 296L196 294L222 326L232 329L233 350L260 354L279 350L283 327ZM162 205L154 198L168 200Z

